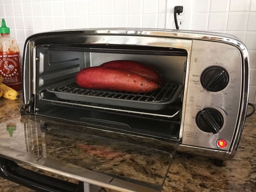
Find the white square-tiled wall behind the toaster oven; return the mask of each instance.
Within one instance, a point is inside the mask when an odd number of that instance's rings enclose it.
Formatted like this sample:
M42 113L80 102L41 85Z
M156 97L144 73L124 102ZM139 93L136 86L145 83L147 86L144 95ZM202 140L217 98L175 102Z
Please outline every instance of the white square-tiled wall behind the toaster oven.
M171 2L171 3L170 3ZM167 5L177 0L0 0L21 51L36 32L95 27L160 28L172 26ZM250 55L250 102L256 102L256 0L191 0L186 29L224 32L241 39Z

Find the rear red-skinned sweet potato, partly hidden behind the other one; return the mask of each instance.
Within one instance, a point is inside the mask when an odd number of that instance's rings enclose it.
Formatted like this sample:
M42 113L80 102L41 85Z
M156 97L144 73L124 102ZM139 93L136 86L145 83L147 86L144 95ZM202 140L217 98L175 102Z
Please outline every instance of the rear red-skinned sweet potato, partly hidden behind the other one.
M137 61L116 60L116 61L106 62L104 64L101 64L100 66L108 67L112 69L127 70L132 73L136 73L140 76L143 76L150 81L154 81L158 84L162 84L162 77L157 72L157 70L155 70L152 67L141 64Z

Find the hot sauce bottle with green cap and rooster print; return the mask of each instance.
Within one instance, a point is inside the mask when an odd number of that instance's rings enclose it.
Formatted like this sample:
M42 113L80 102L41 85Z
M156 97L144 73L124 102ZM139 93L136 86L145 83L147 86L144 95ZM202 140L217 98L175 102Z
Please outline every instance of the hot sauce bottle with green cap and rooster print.
M20 50L15 38L10 37L10 28L4 19L0 27L0 75L3 84L21 90Z

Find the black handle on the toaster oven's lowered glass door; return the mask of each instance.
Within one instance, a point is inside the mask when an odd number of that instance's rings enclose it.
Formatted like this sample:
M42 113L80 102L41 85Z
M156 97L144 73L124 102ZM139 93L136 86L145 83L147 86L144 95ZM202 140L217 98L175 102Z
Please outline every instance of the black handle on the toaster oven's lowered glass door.
M0 177L41 192L79 192L78 184L42 175L0 157Z

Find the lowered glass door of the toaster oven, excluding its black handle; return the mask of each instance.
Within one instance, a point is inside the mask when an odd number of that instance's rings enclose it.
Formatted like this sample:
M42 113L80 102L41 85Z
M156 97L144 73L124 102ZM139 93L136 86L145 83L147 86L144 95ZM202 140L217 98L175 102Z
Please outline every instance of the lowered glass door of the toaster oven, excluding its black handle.
M0 122L0 176L39 191L81 186L17 163L117 191L161 191L179 143L34 115L10 119Z

